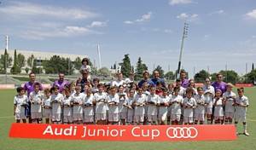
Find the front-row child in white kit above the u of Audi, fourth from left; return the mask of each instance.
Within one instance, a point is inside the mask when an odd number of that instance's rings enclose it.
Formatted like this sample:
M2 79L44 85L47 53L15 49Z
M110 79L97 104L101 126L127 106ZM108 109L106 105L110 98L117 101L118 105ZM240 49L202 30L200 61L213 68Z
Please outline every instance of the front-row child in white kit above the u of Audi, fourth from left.
M59 87L55 86L51 89L51 121L53 124L61 124L61 103L64 99L63 95L59 93Z

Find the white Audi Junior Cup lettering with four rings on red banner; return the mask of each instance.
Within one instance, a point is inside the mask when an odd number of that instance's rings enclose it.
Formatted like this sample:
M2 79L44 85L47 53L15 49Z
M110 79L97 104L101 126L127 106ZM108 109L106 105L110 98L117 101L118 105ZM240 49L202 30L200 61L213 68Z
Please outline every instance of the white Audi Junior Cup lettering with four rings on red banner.
M109 129L105 127L102 129L90 128L90 126L83 126L83 128L74 126L69 126L67 128L53 127L48 125L44 130L43 135L50 136L80 136L81 138L86 137L122 137L125 134L130 134L134 137L148 137L154 140L159 136L166 136L170 139L173 138L195 138L198 135L198 130L195 127L168 127L165 132L163 130L157 129L143 129L140 126L134 126L131 130L126 129Z

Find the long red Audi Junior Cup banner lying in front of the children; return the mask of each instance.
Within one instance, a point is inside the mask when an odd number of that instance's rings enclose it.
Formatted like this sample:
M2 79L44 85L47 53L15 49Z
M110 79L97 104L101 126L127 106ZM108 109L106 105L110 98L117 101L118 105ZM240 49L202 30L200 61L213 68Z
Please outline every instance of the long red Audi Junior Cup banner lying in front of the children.
M228 125L76 125L12 124L9 137L93 141L230 141Z

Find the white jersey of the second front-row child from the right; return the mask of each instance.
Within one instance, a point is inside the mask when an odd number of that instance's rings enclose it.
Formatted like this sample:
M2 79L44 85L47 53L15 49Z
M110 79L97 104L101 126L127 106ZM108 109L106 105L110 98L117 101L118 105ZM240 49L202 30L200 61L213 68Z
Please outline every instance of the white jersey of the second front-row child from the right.
M233 105L236 100L236 94L232 91L230 91L230 92L226 91L226 92L224 92L223 97L226 100L225 112L226 113L234 113L235 107Z

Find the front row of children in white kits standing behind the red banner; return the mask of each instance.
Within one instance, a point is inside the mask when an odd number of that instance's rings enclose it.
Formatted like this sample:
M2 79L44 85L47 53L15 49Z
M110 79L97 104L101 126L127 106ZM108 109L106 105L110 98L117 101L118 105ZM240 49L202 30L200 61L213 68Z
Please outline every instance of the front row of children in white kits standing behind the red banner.
M246 111L248 99L243 88L232 91L232 84L227 84L227 91L210 92L207 88L189 87L183 89L177 81L173 89L145 84L142 88L131 86L130 89L106 87L97 84L87 87L81 93L80 86L69 86L60 93L57 86L39 90L40 84L34 84L34 91L25 95L25 90L17 88L15 96L16 122L26 122L25 107L31 102L32 122L53 124L235 124L243 123L244 134L248 136Z

